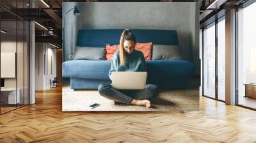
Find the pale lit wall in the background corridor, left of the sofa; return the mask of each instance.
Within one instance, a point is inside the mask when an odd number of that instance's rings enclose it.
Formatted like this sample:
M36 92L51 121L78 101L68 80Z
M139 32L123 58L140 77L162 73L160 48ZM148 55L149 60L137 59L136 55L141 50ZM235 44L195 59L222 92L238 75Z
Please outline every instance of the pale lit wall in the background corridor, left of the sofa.
M36 43L36 90L51 88L50 79L53 80L56 77L56 49L53 48L49 43Z

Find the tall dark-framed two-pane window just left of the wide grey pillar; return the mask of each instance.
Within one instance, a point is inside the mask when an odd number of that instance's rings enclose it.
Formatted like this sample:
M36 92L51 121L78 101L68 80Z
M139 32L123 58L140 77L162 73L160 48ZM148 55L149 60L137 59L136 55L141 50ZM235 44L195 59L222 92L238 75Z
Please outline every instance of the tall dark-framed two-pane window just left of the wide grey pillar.
M225 16L203 31L203 95L225 102Z

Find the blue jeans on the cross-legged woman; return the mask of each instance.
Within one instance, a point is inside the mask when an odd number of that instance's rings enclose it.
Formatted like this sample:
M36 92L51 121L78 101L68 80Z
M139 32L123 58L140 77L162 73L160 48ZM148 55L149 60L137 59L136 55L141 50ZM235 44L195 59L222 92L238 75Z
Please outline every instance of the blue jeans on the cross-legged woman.
M147 84L145 89L141 90L120 90L113 88L110 84L100 84L98 91L101 96L109 100L126 103L128 105L131 104L132 99L149 100L159 94L159 89L154 84Z

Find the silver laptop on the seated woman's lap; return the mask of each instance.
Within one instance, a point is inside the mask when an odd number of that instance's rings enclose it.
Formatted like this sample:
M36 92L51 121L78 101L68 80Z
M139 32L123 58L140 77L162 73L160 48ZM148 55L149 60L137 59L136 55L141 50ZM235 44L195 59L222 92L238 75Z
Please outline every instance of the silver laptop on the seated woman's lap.
M115 89L145 89L147 72L112 72Z

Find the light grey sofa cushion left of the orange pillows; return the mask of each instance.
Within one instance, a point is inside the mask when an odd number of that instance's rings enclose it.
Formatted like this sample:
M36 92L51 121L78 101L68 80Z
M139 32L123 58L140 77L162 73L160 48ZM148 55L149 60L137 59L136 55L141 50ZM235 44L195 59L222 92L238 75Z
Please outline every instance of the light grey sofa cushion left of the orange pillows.
M74 59L106 60L106 49L100 47L76 47Z

